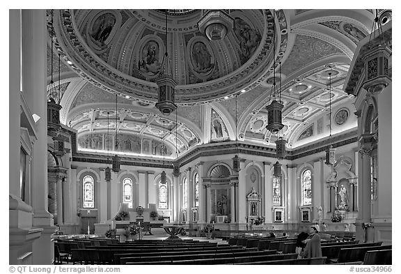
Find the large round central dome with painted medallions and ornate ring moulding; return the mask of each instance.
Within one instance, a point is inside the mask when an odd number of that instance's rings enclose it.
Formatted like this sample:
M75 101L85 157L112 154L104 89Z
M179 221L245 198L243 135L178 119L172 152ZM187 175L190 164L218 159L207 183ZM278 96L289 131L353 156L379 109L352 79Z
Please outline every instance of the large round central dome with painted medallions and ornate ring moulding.
M261 82L272 66L270 10L230 10L230 16L233 29L213 41L198 31L201 10L168 10L168 45L161 10L61 11L56 32L86 79L144 102L157 101L155 78L167 50L178 82L175 101L193 105L233 96Z

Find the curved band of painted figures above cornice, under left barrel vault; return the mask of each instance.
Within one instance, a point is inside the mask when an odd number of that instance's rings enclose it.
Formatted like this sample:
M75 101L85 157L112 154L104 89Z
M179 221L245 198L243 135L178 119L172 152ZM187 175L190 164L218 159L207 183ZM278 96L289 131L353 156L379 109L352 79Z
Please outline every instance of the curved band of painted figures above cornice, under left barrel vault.
M117 151L143 155L163 155L163 143L155 139L127 134L119 134L117 137ZM107 133L92 133L78 137L78 150L93 149L107 151L107 146L109 146L110 153L116 151L116 135L110 134L109 138L107 138ZM164 153L166 156L171 156L173 151L166 146Z

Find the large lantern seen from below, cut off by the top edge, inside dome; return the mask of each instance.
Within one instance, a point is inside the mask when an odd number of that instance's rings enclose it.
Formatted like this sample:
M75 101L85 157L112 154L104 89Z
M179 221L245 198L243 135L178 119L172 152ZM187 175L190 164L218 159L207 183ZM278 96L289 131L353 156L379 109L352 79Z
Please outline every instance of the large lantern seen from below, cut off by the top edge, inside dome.
M234 26L229 13L230 10L202 10L202 18L198 21L199 31L209 40L223 39Z

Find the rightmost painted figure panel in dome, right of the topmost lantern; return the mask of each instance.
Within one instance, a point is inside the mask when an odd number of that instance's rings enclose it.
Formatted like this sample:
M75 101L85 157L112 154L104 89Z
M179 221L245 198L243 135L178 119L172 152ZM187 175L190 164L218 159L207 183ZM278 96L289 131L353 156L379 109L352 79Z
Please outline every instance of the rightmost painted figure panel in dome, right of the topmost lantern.
M260 40L262 40L262 36L260 36L259 31L251 29L251 26L241 18L235 18L234 20L234 33L239 40L239 47L241 48L239 57L244 63L255 52Z

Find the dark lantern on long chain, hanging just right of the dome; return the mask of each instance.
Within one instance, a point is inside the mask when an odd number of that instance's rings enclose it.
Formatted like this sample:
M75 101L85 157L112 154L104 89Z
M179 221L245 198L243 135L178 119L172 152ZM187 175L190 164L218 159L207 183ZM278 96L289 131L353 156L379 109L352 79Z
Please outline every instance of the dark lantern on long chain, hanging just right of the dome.
M273 10L273 100L266 107L267 110L267 125L266 128L272 133L277 133L284 127L282 120L282 112L284 105L281 100L276 100L276 17Z

